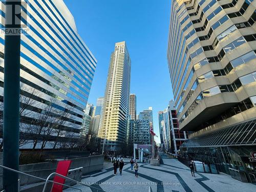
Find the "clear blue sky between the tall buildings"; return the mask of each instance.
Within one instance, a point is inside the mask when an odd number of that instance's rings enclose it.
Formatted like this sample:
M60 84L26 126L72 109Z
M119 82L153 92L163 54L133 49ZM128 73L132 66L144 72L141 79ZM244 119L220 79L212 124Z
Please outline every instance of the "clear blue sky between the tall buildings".
M152 106L154 130L159 135L157 112L173 99L166 59L171 0L64 2L74 16L79 35L98 60L88 102L96 104L97 98L104 96L111 52L115 42L126 41L137 113Z

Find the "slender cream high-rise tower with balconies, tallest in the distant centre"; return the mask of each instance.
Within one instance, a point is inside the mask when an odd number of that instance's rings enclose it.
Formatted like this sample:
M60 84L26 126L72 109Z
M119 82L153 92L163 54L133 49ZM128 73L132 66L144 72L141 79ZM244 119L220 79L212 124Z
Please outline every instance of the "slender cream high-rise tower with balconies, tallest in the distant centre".
M99 137L105 151L118 151L125 142L129 118L131 58L125 41L117 42L111 54Z

